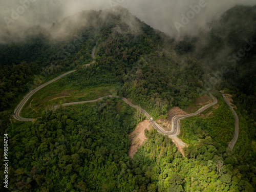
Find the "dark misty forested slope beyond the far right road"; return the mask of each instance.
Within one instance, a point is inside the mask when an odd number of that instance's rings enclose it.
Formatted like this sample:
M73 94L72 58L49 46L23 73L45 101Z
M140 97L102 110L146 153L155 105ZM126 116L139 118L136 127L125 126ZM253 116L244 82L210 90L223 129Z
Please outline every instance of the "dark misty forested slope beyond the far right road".
M245 14L246 13L246 14ZM186 38L179 49L204 66L204 90L228 88L256 139L256 6L236 6L210 24L210 32ZM203 89L202 89L203 90Z

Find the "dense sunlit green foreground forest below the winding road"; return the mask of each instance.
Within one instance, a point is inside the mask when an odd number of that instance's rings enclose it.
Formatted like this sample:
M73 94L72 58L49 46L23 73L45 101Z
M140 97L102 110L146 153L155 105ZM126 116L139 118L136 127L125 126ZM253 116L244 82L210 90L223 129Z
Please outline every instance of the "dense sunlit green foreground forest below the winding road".
M198 133L183 158L152 130L133 161L129 133L143 119L119 99L49 111L13 123L10 188L20 191L253 191L255 164ZM137 118L136 118L137 117ZM200 136L199 136L200 135ZM254 156L255 157L255 156ZM251 184L250 184L251 182Z

